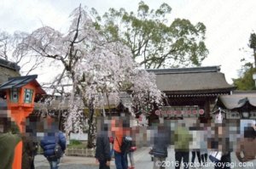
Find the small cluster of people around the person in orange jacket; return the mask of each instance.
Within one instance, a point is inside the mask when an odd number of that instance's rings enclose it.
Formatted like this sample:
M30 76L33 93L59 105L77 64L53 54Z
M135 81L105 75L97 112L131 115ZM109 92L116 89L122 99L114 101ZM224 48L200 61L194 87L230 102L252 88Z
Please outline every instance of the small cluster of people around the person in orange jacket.
M133 152L135 145L136 127L125 119L113 118L110 122L98 121L96 137L96 161L100 169L109 169L112 154L117 169L134 169ZM110 149L110 144L112 148ZM128 156L131 166L128 166Z

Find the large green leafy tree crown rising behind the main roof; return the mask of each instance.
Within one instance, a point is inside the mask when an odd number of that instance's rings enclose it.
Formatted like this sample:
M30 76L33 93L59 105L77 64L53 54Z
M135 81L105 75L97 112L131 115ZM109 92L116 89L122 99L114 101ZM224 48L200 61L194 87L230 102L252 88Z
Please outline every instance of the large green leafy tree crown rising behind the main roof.
M95 10L95 9L94 9ZM201 65L208 51L204 43L206 26L176 19L168 24L172 8L163 3L156 10L140 2L137 14L125 8L109 8L100 17L96 11L96 28L108 41L124 42L145 68Z

